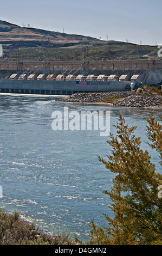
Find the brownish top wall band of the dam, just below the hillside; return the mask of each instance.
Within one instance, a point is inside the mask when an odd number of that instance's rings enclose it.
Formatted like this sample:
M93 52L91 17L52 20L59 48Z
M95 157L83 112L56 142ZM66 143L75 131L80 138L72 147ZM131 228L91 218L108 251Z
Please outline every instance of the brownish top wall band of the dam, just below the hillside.
M86 65L87 71L146 71L162 69L162 60L91 60ZM11 62L0 61L0 70L82 70L81 62L76 61L52 61L44 65L43 62Z

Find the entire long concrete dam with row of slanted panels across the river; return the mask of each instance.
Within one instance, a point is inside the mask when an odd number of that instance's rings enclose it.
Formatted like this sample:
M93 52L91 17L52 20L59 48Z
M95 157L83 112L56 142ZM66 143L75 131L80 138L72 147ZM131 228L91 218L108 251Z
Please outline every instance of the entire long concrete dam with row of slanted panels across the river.
M0 61L0 93L71 95L121 92L128 84L161 82L162 60Z

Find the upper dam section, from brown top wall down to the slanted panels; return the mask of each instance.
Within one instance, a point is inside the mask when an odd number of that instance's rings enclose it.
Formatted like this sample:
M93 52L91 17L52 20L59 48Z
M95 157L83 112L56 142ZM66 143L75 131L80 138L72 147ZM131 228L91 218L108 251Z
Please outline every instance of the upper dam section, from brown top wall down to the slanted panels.
M11 62L0 61L0 78L9 78L11 74L75 74L75 75L116 75L119 80L121 75L128 75L131 80L133 75L140 75L140 82L157 84L161 82L162 60L91 60L86 66L77 61L51 61L44 64L38 62Z

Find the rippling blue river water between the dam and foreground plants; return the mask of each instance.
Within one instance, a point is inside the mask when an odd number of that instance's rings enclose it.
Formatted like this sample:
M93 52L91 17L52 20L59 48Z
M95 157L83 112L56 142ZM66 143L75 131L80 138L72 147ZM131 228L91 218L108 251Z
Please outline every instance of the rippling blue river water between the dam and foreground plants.
M158 154L145 136L151 109L77 105L56 101L59 96L0 95L0 208L20 212L23 220L49 234L69 232L89 240L89 222L106 225L102 213L112 216L111 203L103 190L111 190L113 174L99 162L111 148L100 131L57 130L51 127L54 111L110 111L110 130L121 114L129 126L137 126L141 148L148 150L157 171ZM160 120L158 109L154 117Z

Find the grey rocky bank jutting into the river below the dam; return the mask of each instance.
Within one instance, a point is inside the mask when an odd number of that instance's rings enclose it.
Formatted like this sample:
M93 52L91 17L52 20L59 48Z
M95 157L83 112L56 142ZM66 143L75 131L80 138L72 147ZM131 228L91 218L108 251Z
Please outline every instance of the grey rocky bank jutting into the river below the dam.
M77 103L101 103L112 106L162 108L162 95L157 93L108 92L76 93L58 101Z

